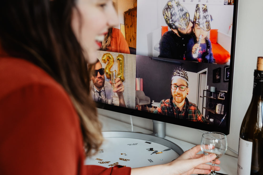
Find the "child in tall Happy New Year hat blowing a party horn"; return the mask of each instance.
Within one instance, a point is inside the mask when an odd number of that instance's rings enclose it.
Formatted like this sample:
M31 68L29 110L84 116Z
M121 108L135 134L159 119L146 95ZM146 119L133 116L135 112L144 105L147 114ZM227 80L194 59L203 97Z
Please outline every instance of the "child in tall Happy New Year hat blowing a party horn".
M211 18L206 4L196 4L193 21L194 35L188 41L185 60L214 63L211 41L208 38Z

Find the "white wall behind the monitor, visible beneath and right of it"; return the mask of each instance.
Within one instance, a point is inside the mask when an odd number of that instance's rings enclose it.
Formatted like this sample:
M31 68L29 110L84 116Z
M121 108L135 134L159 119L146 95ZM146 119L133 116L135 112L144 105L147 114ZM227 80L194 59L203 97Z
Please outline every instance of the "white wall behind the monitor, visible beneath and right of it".
M234 63L234 82L232 94L230 134L227 135L229 148L238 151L239 130L242 119L246 113L252 97L253 73L256 68L257 56L263 56L263 1L240 0L238 4L236 52ZM105 114L104 110L99 110ZM109 113L113 118L130 122L129 115ZM152 129L151 120L133 117L133 124L145 129ZM200 144L201 134L199 130L167 124L168 136Z

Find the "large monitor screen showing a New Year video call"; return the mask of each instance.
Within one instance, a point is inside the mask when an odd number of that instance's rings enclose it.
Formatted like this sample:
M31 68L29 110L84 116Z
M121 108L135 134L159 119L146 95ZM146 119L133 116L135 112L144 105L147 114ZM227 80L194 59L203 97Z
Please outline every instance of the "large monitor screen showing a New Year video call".
M97 107L229 134L237 1L113 3L120 24L88 65Z

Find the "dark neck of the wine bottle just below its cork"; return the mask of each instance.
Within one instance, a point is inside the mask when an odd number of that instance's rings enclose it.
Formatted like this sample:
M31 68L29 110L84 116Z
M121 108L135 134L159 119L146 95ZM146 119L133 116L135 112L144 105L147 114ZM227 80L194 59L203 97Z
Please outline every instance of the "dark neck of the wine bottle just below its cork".
M255 96L263 98L263 71L254 71L253 97Z

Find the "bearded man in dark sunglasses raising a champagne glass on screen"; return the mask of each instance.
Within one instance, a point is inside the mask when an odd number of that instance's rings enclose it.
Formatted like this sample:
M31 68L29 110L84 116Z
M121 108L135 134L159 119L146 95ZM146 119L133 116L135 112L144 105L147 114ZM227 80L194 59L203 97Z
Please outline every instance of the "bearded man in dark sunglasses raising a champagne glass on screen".
M92 76L90 82L90 89L93 99L96 102L106 103L106 104L113 104L122 107L126 107L124 98L123 98L123 91L124 85L120 78L118 77L115 82L115 88L112 88L111 82L105 81L104 76L104 68L99 60L94 65L89 65L89 70L91 70ZM116 92L117 96L114 95Z

